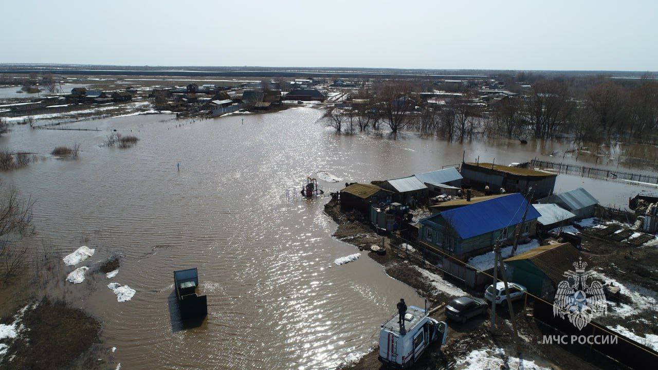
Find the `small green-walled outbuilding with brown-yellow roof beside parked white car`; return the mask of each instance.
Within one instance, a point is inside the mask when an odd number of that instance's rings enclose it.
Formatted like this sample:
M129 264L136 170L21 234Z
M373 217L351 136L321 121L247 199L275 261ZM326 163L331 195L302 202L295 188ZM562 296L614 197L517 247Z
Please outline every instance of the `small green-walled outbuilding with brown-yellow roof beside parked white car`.
M585 260L585 256L569 243L551 244L509 257L505 271L511 282L528 288L534 296L543 297L557 290L557 284L565 280L564 273L573 270L573 263Z

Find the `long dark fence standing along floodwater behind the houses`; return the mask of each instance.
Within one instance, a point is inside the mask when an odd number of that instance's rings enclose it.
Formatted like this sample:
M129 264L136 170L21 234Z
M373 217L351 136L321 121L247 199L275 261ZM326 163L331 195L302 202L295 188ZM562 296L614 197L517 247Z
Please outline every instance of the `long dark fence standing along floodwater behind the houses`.
M569 165L568 163L556 163L549 161L538 161L533 159L530 161L530 166L539 167L541 169L552 169L561 174L571 174L573 176L582 176L590 178L599 178L601 180L617 181L617 182L636 182L638 185L648 186L658 185L658 176L651 176L647 174L630 173L623 171L615 171L609 169L597 169L595 167L586 167L578 165Z

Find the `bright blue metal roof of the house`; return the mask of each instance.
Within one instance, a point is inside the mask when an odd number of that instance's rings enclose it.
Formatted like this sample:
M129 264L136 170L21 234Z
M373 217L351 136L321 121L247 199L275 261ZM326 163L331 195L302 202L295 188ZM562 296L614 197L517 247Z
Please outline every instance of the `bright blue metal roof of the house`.
M526 204L522 194L515 193L449 209L426 220L435 222L432 220L434 217L442 217L462 239L468 239L519 224ZM528 207L526 221L538 219L540 216L534 207Z

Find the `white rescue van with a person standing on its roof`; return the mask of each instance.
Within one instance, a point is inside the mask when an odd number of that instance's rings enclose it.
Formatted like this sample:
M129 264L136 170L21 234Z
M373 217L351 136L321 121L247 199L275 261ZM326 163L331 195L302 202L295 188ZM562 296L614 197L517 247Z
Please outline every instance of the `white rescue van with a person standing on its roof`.
M448 325L428 317L424 309L410 305L404 326L397 322L397 313L382 324L379 332L379 360L391 367L404 368L422 355L435 340L445 344Z

